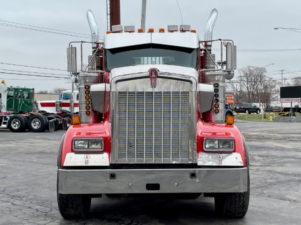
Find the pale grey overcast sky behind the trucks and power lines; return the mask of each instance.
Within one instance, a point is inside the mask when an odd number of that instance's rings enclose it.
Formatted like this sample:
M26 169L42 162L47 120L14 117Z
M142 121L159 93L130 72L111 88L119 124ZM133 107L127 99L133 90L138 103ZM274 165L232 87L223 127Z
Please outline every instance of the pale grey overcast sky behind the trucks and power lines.
M204 29L211 9L218 10L213 38L234 40L237 45L238 68L274 63L266 69L267 74L275 79L281 80L279 70L283 69L283 78L287 80L301 76L301 29L274 29L301 28L300 0L178 0L178 3L183 24L191 24L191 28L197 30L200 39L204 39ZM147 0L145 27L158 30L167 29L168 24L181 24L178 3L177 0ZM140 27L141 0L120 0L120 5L121 24L135 25L136 29ZM93 11L99 34L103 36L107 27L106 0L1 1L0 79L5 79L8 85L33 87L36 90L71 88L68 79L44 76L66 76L66 48L69 42L90 41L90 28L86 19L88 9ZM45 28L49 28L47 31L50 32L33 30L46 30ZM63 32L51 29L82 33L68 33L82 37L59 34ZM219 45L213 47L218 48ZM86 45L86 48L88 51L84 56L85 61L91 49L89 45ZM216 53L218 59L219 52Z

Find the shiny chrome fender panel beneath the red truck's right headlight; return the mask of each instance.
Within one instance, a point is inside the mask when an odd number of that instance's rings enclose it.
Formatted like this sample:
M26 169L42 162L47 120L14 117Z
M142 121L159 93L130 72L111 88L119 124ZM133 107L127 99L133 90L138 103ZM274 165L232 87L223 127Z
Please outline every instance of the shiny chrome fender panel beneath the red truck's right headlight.
M218 155L222 155L222 160L219 163ZM241 154L238 152L221 153L221 152L200 152L198 165L219 165L219 166L243 166Z

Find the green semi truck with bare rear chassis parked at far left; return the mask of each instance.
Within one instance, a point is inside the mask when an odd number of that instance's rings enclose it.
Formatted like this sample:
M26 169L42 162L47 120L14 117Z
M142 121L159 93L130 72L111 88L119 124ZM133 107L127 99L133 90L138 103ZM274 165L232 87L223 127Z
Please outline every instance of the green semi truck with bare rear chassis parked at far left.
M13 132L44 132L67 129L67 119L56 113L40 113L35 110L34 89L28 87L8 87L4 80L0 83L0 127Z

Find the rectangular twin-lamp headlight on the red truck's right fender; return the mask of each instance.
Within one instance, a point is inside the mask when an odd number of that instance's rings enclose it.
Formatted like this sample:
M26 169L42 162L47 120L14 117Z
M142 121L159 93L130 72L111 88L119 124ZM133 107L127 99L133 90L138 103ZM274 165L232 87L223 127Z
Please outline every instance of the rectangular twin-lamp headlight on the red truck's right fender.
M233 151L234 139L205 138L204 150L205 151Z

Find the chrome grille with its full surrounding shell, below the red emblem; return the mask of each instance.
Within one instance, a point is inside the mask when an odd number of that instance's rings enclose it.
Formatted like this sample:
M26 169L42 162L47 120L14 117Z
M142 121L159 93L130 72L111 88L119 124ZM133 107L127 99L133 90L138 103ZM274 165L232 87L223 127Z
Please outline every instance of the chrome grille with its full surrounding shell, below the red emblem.
M160 73L118 76L111 85L111 163L197 163L196 80Z

